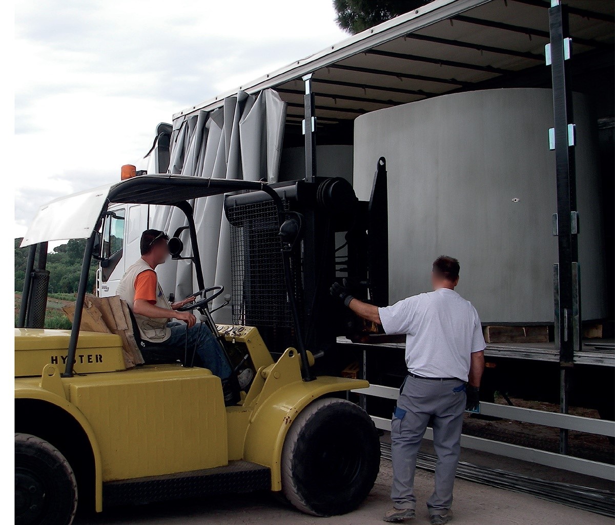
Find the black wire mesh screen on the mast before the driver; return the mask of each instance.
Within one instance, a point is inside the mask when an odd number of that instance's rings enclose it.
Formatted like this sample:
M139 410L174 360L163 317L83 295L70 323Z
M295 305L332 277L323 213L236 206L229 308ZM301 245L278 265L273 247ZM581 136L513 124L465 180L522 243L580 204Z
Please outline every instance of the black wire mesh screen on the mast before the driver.
M233 323L292 327L280 253L274 202L253 202L228 209L231 223ZM296 264L292 264L296 283Z

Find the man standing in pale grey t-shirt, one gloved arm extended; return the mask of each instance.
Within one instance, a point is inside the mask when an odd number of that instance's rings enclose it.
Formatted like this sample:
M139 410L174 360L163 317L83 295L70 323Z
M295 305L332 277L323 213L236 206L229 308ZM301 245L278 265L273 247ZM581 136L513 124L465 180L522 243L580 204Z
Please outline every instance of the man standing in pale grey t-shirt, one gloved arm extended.
M358 316L381 324L386 334L406 334L408 375L391 420L393 508L384 521L415 518L416 454L430 419L438 460L427 509L434 525L453 518L450 508L464 410L478 406L486 345L477 311L454 291L459 283L458 260L438 257L431 281L433 292L384 308L355 299L338 283L331 286L331 295Z

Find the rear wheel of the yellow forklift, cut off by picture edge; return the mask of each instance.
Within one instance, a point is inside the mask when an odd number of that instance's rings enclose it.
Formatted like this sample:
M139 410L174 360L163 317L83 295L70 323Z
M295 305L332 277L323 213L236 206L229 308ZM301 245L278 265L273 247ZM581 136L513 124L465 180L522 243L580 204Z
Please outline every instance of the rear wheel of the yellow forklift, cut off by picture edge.
M70 525L77 510L77 482L52 444L15 434L15 525Z

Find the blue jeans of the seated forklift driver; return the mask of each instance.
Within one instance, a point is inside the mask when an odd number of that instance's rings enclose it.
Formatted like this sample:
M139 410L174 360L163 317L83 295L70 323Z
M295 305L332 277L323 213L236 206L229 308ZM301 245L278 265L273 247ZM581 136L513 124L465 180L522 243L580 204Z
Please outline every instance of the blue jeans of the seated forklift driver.
M173 321L167 326L171 330L169 339L164 343L148 343L147 347L141 350L146 363L181 361L188 366L193 364L208 368L220 379L226 379L231 375L228 359L206 324L197 323L188 328L186 324ZM186 335L188 336L187 341ZM192 362L193 353L194 362Z

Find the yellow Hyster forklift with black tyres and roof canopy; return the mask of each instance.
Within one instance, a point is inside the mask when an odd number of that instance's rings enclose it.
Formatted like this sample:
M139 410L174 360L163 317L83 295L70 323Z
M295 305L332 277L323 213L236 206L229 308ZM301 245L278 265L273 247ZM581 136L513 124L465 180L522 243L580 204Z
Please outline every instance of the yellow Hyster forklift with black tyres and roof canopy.
M296 348L275 360L258 329L216 326L210 315L207 294L221 290L204 283L189 201L236 192L261 192L277 210ZM243 390L234 382L233 403L225 406L220 378L189 359L135 366L120 335L80 330L90 263L105 264L100 232L116 203L175 206L186 215L199 286L191 308L218 334L231 368L252 370ZM368 383L312 371L290 273L300 220L267 183L181 175L141 175L41 207L22 243L30 256L15 328L16 524L70 524L77 502L100 512L268 489L305 513L330 516L367 497L379 470L378 433L348 398ZM46 243L68 238L87 239L73 327L35 328L44 319ZM170 244L182 257L180 239Z

